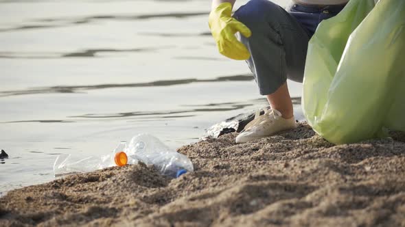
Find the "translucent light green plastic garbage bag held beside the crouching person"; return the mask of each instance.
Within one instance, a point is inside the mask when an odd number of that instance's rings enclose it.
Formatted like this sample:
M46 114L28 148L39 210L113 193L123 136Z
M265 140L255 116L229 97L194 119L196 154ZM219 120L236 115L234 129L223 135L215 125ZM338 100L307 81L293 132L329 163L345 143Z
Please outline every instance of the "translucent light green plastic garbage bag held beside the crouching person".
M405 1L350 0L308 46L303 112L334 144L405 131Z

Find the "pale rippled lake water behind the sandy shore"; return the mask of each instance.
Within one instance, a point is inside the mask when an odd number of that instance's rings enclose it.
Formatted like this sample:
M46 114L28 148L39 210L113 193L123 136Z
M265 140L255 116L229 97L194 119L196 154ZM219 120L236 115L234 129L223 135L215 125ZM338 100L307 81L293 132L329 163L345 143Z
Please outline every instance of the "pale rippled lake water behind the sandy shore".
M209 10L208 1L0 1L0 149L10 155L0 193L53 180L62 153L103 155L143 132L178 148L266 105L246 64L216 50Z

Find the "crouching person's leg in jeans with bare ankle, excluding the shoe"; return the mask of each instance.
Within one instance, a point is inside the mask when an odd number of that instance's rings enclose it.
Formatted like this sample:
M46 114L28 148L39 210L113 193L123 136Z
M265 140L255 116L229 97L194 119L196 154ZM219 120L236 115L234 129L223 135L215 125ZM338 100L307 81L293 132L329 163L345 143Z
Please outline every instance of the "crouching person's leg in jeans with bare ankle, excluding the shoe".
M252 31L240 37L251 53L246 62L272 109L291 118L292 102L286 79L302 82L310 39L296 18L267 0L251 0L233 15Z

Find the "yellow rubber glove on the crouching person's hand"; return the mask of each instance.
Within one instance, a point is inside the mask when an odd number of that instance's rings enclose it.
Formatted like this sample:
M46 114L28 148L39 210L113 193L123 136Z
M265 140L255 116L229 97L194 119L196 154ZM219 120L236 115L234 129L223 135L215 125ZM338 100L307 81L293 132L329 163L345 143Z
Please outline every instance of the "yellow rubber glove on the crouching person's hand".
M251 29L231 16L231 3L221 3L209 14L208 22L211 34L216 40L218 50L235 60L246 60L251 57L246 46L236 39L235 33L240 32L246 38L252 35Z

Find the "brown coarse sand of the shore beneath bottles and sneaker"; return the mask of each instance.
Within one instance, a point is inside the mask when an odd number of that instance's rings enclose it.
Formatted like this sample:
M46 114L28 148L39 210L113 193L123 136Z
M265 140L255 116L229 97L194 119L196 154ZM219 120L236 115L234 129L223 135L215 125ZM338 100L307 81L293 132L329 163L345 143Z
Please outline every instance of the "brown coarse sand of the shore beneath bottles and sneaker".
M334 146L305 123L179 152L195 172L143 164L67 176L0 198L0 226L405 226L405 136Z

